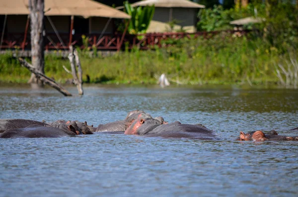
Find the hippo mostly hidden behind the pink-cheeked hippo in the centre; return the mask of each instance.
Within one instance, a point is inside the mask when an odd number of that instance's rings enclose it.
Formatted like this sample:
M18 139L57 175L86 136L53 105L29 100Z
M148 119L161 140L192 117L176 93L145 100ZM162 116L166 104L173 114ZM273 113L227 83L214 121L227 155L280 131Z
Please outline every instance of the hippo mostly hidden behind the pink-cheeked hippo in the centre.
M129 128L129 126L138 118L140 114L146 114L144 111L134 110L127 114L126 118L123 121L115 121L107 124L100 124L96 128L96 132L118 132L124 133L124 131ZM150 116L149 114L147 114ZM166 124L162 117L156 117L155 119Z

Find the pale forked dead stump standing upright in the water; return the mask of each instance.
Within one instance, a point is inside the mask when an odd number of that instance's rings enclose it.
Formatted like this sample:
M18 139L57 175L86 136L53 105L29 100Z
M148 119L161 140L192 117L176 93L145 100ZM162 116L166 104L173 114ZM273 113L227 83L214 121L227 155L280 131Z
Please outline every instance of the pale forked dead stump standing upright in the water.
M71 63L71 67L72 67L72 75L73 75L73 79L74 79L74 84L76 85L77 91L79 95L83 95L83 88L82 88L82 68L80 66L80 61L78 58L78 54L77 51L74 49L74 47L71 45L70 46L70 54L68 56L70 63ZM75 60L75 64L77 66L77 74L76 75L76 69L74 66L74 60Z

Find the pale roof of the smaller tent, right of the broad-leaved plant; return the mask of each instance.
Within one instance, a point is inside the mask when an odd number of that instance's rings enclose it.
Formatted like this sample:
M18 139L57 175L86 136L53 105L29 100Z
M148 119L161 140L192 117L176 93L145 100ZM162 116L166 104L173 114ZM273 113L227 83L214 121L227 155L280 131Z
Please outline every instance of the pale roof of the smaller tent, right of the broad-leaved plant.
M155 7L191 7L191 8L205 8L205 5L195 3L189 0L142 0L132 4L136 6L151 6Z

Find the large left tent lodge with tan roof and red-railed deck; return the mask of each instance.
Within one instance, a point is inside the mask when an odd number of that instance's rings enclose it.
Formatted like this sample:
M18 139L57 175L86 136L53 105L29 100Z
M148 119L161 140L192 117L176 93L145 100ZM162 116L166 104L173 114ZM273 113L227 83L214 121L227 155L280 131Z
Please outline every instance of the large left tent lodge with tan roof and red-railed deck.
M93 0L45 0L45 49L83 47L119 50L124 33L117 32L115 20L124 22L125 12ZM0 0L0 49L28 50L30 46L30 12L28 0Z

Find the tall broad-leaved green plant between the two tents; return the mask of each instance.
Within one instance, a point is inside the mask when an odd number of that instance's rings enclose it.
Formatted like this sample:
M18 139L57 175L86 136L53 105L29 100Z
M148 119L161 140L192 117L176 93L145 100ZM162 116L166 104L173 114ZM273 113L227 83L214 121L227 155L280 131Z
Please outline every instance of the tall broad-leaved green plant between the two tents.
M146 7L132 7L128 1L124 3L124 11L131 16L131 21L128 26L130 34L143 34L146 33L150 21L154 15L154 5Z

